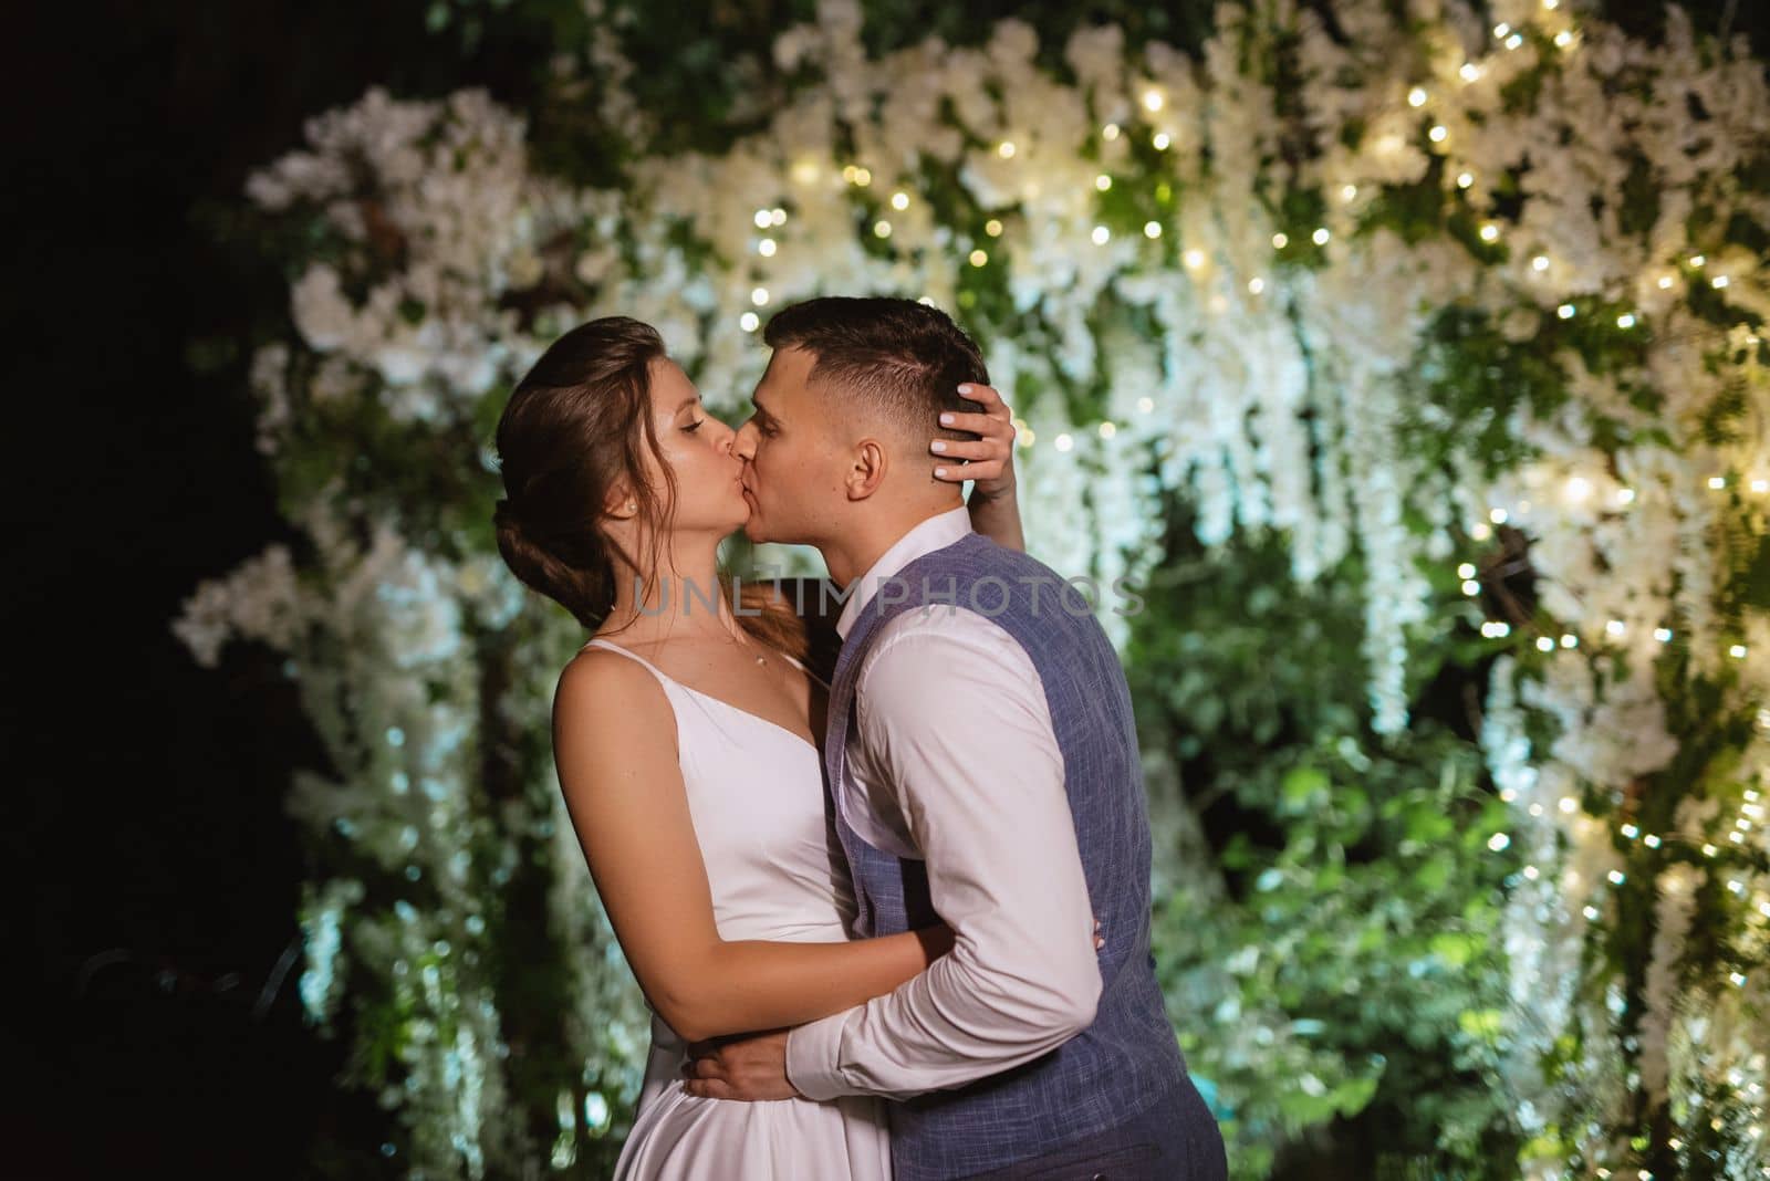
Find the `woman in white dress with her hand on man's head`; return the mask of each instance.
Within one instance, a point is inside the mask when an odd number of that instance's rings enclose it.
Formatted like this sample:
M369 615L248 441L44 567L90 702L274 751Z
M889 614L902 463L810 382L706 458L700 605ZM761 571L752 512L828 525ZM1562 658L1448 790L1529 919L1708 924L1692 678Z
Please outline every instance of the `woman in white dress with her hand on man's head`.
M956 426L981 438L949 444L943 461L970 460L949 479L977 479L974 523L1018 546L1014 428L995 391L972 396L982 410ZM885 1179L881 1100L683 1089L689 1043L844 1011L952 946L940 925L848 939L818 753L827 686L791 606L759 585L735 599L715 564L749 518L733 437L657 331L625 316L554 341L497 424L497 548L593 633L559 675L554 762L653 1013L616 1177Z

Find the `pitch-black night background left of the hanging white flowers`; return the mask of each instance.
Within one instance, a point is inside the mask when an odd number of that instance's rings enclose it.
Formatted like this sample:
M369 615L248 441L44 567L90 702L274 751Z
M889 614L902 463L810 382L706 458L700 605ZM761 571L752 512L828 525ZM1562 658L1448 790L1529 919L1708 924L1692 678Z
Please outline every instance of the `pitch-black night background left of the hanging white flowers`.
M349 1146L335 1174L373 1176L384 1116L329 1086L340 1050L303 1025L299 958L276 978L303 875L281 797L317 746L276 656L234 645L202 670L168 629L200 580L287 536L244 394L251 329L287 281L223 246L214 210L370 83L520 106L540 46L428 37L418 0L30 7L58 11L14 23L0 71L4 371L23 421L0 718L25 799L0 863L27 951L0 1022L21 1087L0 1172L308 1176L329 1142ZM1607 7L1637 32L1658 19ZM1690 11L1761 55L1770 14L1743 9ZM191 366L198 341L218 366Z

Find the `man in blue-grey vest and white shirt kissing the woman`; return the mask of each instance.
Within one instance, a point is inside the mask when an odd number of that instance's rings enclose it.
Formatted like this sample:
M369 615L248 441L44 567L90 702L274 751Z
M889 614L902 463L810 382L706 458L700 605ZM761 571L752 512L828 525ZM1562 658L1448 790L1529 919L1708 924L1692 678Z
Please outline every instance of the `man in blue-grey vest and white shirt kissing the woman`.
M747 532L818 546L850 592L825 771L853 933L945 921L956 944L864 1006L706 1048L689 1089L896 1100L899 1181L1225 1177L1156 987L1119 658L1073 587L927 474L927 415L989 380L977 347L904 299L814 299L765 339Z

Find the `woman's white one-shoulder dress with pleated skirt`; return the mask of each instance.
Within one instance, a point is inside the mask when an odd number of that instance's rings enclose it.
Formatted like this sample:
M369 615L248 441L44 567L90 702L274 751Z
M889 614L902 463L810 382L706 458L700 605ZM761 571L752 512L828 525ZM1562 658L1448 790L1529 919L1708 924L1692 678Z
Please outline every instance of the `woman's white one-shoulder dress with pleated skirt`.
M848 870L823 810L823 757L759 714L639 661L676 711L681 780L720 939L848 939ZM791 659L791 658L788 658ZM793 661L804 668L798 661ZM811 675L807 672L807 675ZM669 866L660 866L669 872ZM683 1091L685 1041L651 1013L651 1054L616 1181L889 1181L883 1100L703 1100Z

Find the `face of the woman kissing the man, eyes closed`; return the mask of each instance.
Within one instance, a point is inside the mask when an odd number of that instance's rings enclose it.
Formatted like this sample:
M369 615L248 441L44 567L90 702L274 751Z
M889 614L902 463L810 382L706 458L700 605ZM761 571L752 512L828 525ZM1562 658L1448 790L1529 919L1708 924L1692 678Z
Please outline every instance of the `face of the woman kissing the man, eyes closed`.
M706 412L694 382L667 357L651 362L651 430L658 458L676 477L676 532L724 537L743 529L743 461L733 454L735 431ZM650 472L658 495L669 495L662 472Z

